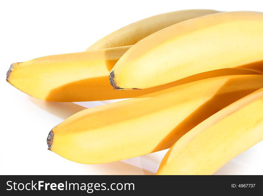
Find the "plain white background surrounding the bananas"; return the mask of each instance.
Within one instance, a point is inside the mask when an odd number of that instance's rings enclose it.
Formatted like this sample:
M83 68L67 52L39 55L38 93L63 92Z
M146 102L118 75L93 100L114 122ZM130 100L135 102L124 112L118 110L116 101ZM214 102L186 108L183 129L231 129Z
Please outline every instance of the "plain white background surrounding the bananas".
M47 150L51 128L84 109L74 103L40 101L5 81L11 63L84 51L98 39L137 20L184 9L262 11L262 1L1 1L0 174L153 175L166 151L99 165L74 163ZM79 104L79 103L78 103ZM81 103L86 107L102 102ZM215 174L263 175L263 142Z

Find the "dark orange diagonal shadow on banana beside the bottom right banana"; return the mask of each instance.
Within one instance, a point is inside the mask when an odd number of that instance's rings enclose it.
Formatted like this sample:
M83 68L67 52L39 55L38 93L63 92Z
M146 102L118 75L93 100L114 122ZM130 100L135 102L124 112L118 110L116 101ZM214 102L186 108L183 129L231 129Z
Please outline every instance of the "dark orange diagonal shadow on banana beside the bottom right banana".
M233 84L243 83L246 84L246 81L236 80L235 78L229 79L218 91L216 94L193 111L187 118L184 119L178 126L176 126L165 138L163 138L160 143L153 149L152 152L170 148L178 139L180 139L184 134L190 131L192 128L200 124L205 119L209 118L211 115L215 114L219 110L227 107L238 99L243 98L246 95L249 95L252 92L263 87L263 78L262 85L258 85L253 89L238 90L232 92L226 92L226 89L231 88ZM242 84L240 84L242 85ZM167 156L166 156L167 157ZM164 159L164 161L166 158Z

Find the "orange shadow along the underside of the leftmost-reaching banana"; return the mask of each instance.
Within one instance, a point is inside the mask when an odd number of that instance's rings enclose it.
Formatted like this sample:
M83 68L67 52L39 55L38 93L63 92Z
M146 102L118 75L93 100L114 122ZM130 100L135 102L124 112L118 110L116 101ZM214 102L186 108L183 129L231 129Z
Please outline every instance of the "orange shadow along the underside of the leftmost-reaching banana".
M236 74L259 73L253 70L226 68L221 70L213 70L209 72L199 73L158 87L133 90L114 90L111 84L109 83L108 76L101 76L71 82L61 87L55 88L48 94L45 100L56 102L79 102L134 98L201 79Z

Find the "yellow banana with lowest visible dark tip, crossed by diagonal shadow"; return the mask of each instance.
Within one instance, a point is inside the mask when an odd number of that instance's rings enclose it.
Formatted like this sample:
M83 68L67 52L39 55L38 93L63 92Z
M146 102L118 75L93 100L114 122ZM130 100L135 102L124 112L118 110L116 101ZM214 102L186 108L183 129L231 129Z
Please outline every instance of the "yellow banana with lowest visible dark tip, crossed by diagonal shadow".
M85 109L50 131L48 149L86 164L167 149L194 126L262 84L263 75L220 76Z

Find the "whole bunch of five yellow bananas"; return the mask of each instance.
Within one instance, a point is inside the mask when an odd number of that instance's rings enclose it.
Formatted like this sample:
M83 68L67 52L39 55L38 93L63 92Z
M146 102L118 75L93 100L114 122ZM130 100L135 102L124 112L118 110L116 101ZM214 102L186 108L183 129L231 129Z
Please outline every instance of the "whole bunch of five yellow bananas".
M85 52L14 63L7 81L45 101L132 98L82 110L48 149L86 164L169 149L157 175L211 175L263 140L263 13L182 10Z

